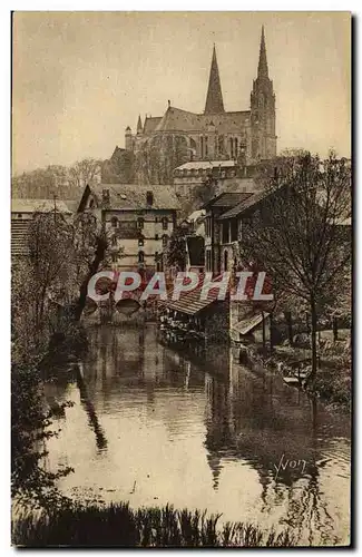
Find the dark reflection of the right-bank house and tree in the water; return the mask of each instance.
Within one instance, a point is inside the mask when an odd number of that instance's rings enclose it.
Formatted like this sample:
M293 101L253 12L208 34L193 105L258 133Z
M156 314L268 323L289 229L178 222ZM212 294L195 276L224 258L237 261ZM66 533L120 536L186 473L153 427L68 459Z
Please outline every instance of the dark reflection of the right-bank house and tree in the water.
M320 486L329 460L323 459L326 412L278 377L257 375L233 356L228 375L206 375L205 447L214 489L225 461L247 463L258 475L264 512L281 505L284 522L301 536L332 539L333 520Z

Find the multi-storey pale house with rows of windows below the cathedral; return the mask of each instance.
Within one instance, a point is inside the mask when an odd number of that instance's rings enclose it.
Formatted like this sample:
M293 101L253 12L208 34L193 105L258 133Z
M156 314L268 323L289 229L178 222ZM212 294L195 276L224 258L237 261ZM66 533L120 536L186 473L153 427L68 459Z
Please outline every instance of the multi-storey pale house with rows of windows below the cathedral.
M179 208L173 186L87 186L78 212L92 212L110 236L112 267L162 271Z

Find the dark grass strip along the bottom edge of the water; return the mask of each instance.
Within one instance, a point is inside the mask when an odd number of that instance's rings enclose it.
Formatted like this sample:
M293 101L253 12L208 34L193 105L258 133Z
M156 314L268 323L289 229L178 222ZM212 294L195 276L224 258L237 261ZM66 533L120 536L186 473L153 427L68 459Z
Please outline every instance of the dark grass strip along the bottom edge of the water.
M206 511L131 509L128 504L70 507L28 515L12 524L12 544L26 547L291 547L288 530L276 534L257 526L226 522Z

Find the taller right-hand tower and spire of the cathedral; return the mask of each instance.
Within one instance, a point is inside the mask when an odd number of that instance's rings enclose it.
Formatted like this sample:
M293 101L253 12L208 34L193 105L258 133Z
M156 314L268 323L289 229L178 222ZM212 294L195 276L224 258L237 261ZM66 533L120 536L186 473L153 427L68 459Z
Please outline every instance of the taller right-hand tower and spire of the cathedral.
M268 78L264 26L262 27L257 78L253 81L251 95L252 158L263 159L276 156L275 95L273 81Z

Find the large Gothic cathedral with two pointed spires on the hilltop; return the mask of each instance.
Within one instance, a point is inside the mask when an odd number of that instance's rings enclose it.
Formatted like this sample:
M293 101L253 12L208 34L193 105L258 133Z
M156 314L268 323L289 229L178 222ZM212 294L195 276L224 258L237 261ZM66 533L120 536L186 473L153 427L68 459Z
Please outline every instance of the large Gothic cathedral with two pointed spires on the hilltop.
M235 160L251 166L275 157L275 94L264 27L250 110L225 110L214 46L204 113L182 110L168 101L164 116L146 117L144 123L139 116L136 134L126 128L125 147L116 147L105 167L110 176L114 173L112 180L117 167L126 168L128 182L162 184L170 183L174 169L187 162Z

